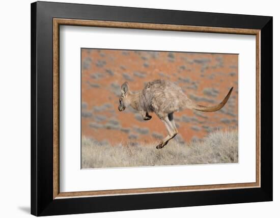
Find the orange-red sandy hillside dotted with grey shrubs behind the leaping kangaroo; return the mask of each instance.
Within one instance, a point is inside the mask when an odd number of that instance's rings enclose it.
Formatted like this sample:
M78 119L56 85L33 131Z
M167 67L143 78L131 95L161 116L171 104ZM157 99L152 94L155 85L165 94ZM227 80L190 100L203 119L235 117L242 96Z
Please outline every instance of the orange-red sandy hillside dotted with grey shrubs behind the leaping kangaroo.
M157 78L174 81L190 99L203 105L220 102L234 87L228 103L218 112L175 113L178 142L203 138L216 128L238 127L237 55L82 49L82 135L113 145L148 143L164 137L164 124L155 114L143 121L132 108L118 111L124 81L128 81L131 91L137 91Z

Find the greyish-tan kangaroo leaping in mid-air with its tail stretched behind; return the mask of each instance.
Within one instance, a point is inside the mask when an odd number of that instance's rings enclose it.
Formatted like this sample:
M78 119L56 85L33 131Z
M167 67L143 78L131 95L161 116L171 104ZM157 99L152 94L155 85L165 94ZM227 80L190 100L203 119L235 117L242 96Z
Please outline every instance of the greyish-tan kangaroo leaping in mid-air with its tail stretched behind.
M173 113L184 109L193 109L203 112L215 112L220 110L228 101L233 87L227 96L213 106L203 106L193 103L183 92L183 90L172 83L163 79L156 79L146 84L143 90L131 92L128 83L121 86L122 96L119 99L119 111L124 111L129 105L138 111L144 120L150 120L149 113L154 112L165 124L168 135L160 142L156 148L163 148L178 131L173 119Z

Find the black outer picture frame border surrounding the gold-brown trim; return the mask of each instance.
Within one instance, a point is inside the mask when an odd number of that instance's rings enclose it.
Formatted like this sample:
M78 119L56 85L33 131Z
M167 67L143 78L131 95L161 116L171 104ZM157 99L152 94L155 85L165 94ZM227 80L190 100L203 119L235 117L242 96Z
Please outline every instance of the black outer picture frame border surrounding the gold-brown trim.
M53 199L53 18L261 30L261 187ZM31 4L31 213L36 216L272 201L272 17Z

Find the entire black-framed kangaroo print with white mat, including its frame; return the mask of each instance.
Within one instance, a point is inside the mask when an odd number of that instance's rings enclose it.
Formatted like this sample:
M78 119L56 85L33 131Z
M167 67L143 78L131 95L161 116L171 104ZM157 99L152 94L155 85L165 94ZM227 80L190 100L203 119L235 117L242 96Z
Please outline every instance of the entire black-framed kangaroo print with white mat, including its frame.
M272 201L272 17L36 2L31 28L32 214Z

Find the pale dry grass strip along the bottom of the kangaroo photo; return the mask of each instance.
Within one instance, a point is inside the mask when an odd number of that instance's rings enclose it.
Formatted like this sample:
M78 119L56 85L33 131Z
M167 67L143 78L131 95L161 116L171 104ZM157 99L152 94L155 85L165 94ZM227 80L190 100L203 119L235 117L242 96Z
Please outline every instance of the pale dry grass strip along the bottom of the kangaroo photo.
M162 149L149 145L110 146L82 139L82 168L116 168L238 162L238 131L216 131L181 145L171 140Z

